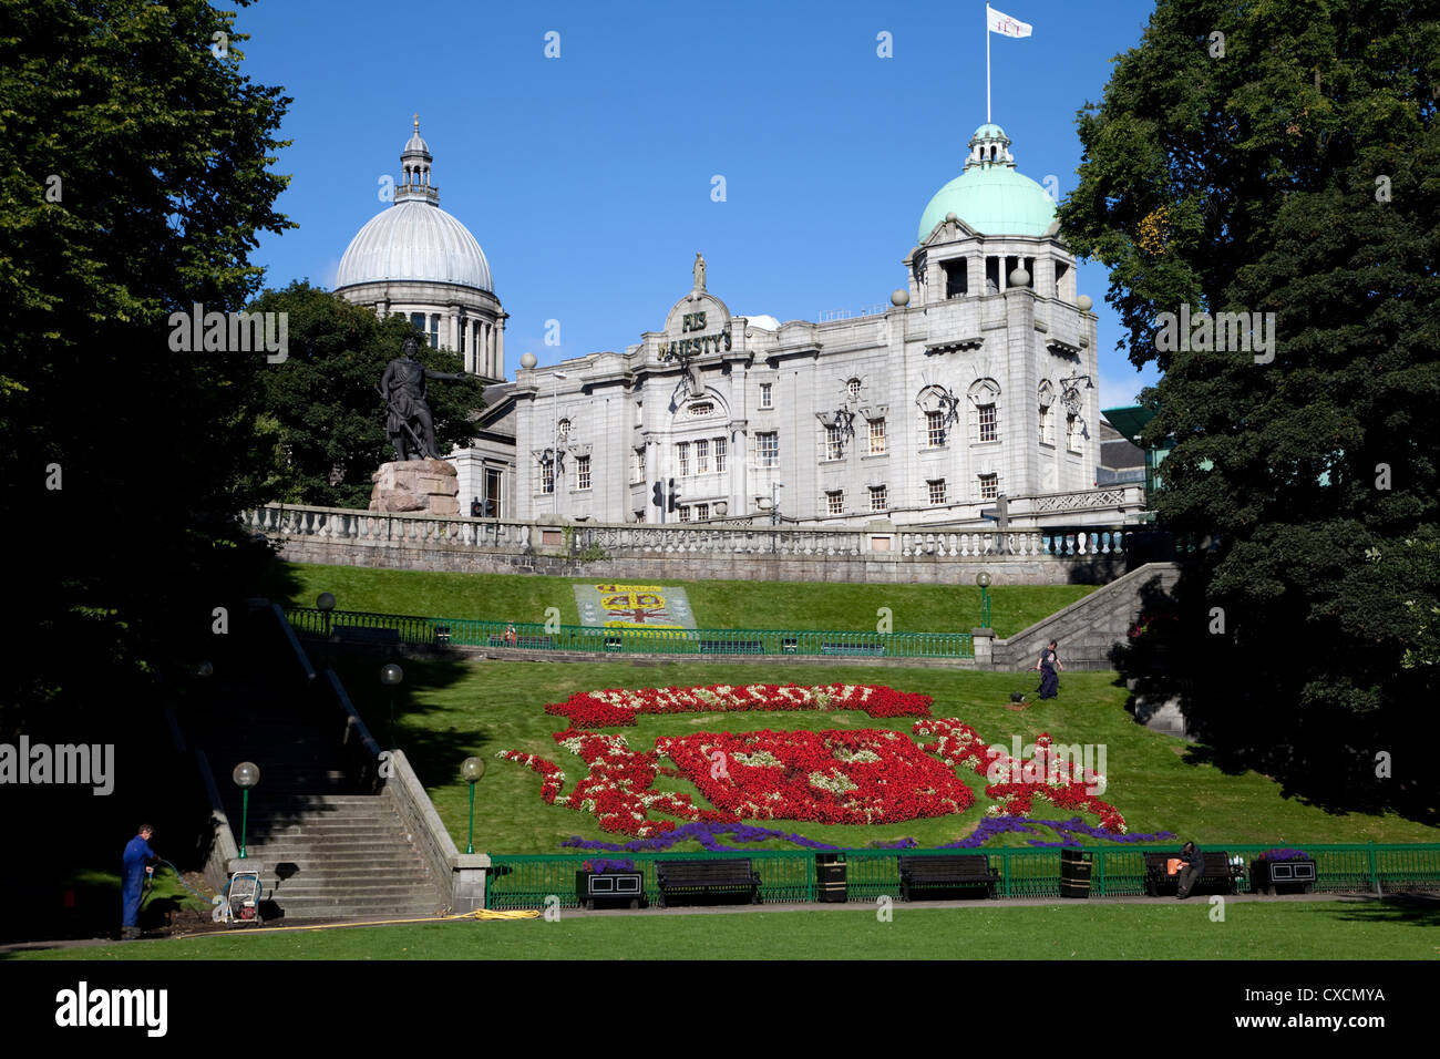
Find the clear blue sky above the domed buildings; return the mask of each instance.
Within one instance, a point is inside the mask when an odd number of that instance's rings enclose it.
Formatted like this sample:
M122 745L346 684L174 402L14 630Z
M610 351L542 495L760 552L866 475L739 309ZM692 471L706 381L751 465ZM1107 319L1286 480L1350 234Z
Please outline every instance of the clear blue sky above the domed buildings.
M1076 111L1139 43L1152 3L1001 0L1028 22L992 37L994 120L1017 167L1074 187ZM985 121L985 3L311 3L261 0L236 20L253 81L284 85L294 144L265 235L266 284L331 287L380 209L379 180L419 112L441 206L485 251L505 311L510 377L624 350L690 290L696 251L733 313L816 320L903 287L930 196ZM559 33L560 58L546 58ZM893 58L877 36L891 35ZM713 177L726 200L711 199ZM1153 369L1115 350L1106 271L1080 269L1100 314L1102 408ZM559 320L560 344L546 344Z

